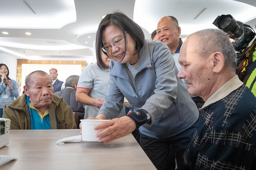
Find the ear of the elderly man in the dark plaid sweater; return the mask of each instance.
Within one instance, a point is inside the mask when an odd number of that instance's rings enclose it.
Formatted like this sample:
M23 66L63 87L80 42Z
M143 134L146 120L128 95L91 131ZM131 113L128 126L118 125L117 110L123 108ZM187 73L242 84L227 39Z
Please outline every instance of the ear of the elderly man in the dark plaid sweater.
M215 52L211 56L212 71L214 73L219 73L224 68L224 55L221 52Z

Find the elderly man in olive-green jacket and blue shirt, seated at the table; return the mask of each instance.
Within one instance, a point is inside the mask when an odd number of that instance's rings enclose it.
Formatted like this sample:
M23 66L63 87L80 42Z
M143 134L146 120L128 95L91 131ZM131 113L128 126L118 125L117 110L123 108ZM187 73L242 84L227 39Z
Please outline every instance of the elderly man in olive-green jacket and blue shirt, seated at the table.
M30 73L23 87L25 94L4 110L11 129L76 129L70 107L54 95L50 76L41 70Z

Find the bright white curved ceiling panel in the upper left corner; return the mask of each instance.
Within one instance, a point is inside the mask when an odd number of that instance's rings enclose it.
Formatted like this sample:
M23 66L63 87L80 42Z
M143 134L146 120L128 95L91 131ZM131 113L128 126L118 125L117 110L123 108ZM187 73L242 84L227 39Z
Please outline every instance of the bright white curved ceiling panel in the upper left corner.
M12 8L6 8L6 6ZM76 8L73 0L1 1L0 11L2 28L56 29L76 22Z

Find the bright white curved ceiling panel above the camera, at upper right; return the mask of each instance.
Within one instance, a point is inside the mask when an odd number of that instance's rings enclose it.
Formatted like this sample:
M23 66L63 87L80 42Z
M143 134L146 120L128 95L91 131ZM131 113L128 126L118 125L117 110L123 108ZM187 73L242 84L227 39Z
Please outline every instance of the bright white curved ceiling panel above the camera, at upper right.
M162 17L171 15L178 19L181 34L188 35L201 29L217 28L212 22L218 15L231 14L236 20L247 22L256 18L255 11L255 6L233 0L136 0L133 20L152 33Z

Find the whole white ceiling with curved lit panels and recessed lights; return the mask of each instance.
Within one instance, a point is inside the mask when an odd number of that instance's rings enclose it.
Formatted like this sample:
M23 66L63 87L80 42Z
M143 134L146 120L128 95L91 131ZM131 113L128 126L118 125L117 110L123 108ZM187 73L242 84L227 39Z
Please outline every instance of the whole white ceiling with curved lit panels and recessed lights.
M0 0L0 51L18 59L93 63L97 27L103 15L115 10L141 26L146 39L168 15L178 19L181 38L217 28L212 22L222 14L254 30L256 24L255 0Z

